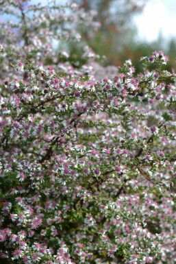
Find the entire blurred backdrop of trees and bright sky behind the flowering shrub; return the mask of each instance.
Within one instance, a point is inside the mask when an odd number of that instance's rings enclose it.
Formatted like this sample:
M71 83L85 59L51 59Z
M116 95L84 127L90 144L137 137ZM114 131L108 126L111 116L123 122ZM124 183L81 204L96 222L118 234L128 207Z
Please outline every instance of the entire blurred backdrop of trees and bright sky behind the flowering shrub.
M79 30L85 43L106 57L104 66L120 66L131 59L140 72L140 57L164 50L170 56L166 69L176 68L175 0L75 0L75 3L85 10L97 10L99 30L92 36L84 28ZM79 56L84 41L70 45L69 49Z

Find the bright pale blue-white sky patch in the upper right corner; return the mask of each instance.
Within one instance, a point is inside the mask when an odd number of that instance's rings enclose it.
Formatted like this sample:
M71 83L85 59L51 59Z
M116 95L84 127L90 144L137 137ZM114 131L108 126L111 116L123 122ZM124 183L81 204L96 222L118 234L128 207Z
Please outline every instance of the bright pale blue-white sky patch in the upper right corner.
M176 38L176 0L146 0L142 13L134 16L140 40L153 41L162 34Z

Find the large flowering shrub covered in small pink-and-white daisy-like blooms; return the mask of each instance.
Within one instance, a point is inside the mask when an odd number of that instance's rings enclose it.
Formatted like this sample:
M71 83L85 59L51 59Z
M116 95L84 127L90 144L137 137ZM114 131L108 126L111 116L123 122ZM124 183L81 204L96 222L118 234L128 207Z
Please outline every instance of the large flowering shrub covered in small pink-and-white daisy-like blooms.
M174 264L168 57L155 51L139 75L128 60L96 80L93 51L85 47L88 60L74 69L53 42L77 38L76 23L98 25L94 13L21 0L2 2L1 12L14 16L0 31L3 263Z

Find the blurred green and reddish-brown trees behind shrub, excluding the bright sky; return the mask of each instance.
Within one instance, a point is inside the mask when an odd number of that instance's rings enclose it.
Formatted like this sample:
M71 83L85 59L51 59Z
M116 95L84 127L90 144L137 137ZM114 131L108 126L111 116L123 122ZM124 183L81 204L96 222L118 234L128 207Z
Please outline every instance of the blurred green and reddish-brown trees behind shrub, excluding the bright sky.
M142 71L142 65L139 63L140 57L149 56L153 50L162 50L171 56L171 60L166 65L167 70L175 70L175 39L166 40L162 34L158 39L147 43L142 40L136 40L137 31L132 23L133 16L142 12L149 1L126 1L126 0L108 0L108 1L89 1L77 0L77 3L86 10L97 11L97 21L100 21L101 27L94 33L89 34L86 28L79 28L81 35L84 36L85 43L92 48L95 53L101 57L103 65L122 65L124 60L131 59L137 72ZM84 44L85 44L84 43ZM65 45L65 44L64 44ZM71 44L68 47L71 53L82 54L82 45ZM72 52L73 51L73 52Z

